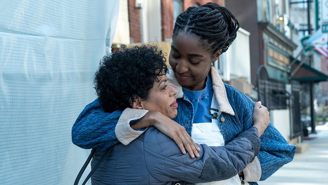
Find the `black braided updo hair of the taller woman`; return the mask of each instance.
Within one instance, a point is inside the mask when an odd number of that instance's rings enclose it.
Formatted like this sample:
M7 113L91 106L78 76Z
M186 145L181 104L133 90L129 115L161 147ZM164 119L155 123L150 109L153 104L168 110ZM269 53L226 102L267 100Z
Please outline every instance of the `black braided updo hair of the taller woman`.
M234 20L234 22L232 21ZM239 23L231 12L216 3L189 7L175 21L173 36L179 32L193 33L207 41L214 55L219 49L226 52L235 40Z

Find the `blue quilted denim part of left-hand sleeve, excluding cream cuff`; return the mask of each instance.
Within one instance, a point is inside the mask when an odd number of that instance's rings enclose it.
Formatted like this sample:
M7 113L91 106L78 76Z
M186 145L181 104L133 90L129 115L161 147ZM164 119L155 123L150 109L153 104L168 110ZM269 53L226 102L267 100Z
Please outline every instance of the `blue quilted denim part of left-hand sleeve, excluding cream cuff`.
M72 127L73 144L83 149L104 151L119 143L115 126L122 112L104 112L98 99L88 104Z

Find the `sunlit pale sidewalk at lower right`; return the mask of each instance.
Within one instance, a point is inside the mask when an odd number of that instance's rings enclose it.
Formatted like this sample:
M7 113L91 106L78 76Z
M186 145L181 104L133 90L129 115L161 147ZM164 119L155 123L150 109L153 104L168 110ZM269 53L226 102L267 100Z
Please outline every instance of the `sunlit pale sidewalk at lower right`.
M313 139L309 150L296 154L294 160L259 185L327 185L328 184L328 124L316 127L318 134L310 134Z

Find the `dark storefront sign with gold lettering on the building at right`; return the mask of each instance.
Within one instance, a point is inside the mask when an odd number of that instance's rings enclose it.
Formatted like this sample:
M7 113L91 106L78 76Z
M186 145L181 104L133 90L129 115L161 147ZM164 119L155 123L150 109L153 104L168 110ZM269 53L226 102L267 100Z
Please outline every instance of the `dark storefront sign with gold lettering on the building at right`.
M287 71L287 67L290 63L290 55L287 52L273 44L268 43L267 56L269 65L279 68L283 71Z

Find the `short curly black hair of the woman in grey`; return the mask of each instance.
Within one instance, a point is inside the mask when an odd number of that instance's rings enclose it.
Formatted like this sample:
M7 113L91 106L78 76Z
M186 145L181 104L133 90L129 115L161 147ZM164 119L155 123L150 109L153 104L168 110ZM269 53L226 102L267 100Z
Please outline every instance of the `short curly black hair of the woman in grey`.
M154 81L167 72L166 54L151 45L128 48L105 56L94 77L96 94L105 112L131 107L135 99L146 100Z

